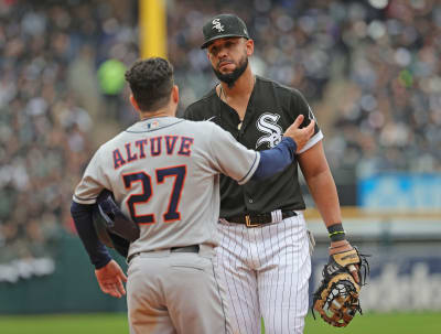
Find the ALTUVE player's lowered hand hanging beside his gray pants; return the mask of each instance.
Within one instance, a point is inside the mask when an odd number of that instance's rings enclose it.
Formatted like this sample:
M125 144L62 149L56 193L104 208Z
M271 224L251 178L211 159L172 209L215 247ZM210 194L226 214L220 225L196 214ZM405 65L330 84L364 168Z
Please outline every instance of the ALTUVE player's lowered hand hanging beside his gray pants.
M95 276L104 293L116 298L121 298L126 294L122 282L127 282L127 277L115 260L111 260L100 269L95 269Z

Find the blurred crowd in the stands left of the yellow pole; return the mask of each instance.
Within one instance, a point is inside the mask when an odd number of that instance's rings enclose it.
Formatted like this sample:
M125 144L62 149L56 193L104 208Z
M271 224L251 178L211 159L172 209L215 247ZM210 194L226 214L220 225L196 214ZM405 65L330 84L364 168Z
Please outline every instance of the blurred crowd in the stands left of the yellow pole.
M73 188L120 121L122 88L103 85L100 65L138 56L130 13L111 1L0 1L0 263L51 257L72 229Z

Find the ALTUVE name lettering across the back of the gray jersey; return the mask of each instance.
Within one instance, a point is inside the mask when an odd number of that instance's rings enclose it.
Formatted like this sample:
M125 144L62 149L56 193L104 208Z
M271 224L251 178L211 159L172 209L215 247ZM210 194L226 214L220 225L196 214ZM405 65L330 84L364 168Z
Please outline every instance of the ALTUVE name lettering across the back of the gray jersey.
M190 157L193 141L193 138L183 136L158 136L128 142L123 146L123 149L112 151L114 166L117 170L126 163L147 157L159 157L163 152L168 155Z

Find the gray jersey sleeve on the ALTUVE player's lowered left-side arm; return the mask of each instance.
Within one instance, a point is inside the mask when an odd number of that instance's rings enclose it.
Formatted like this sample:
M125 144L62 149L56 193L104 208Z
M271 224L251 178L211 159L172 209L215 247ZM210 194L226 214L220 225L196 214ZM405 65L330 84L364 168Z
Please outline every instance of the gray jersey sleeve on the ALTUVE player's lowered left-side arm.
M79 204L95 204L99 193L104 188L108 188L103 168L99 164L98 150L92 158L89 164L84 172L82 180L75 187L73 201Z

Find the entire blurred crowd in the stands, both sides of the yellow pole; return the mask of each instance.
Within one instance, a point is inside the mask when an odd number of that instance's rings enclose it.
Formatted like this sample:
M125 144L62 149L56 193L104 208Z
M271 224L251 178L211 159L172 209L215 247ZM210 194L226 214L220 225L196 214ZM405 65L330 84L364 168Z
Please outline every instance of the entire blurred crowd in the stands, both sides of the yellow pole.
M303 93L334 170L441 171L441 3L169 0L179 112L213 87L202 25L234 12L251 66ZM0 262L51 252L97 146L136 119L137 1L0 0Z

